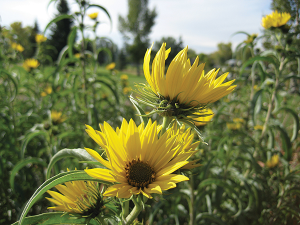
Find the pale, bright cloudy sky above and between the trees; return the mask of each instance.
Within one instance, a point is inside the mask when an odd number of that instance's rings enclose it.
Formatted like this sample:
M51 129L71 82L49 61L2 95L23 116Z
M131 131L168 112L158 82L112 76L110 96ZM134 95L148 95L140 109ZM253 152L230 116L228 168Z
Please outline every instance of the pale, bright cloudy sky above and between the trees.
M67 0L71 11L76 10L74 0ZM148 0L149 9L155 8L157 16L152 27L150 41L159 41L162 37L181 37L183 44L196 53L211 53L217 44L232 43L234 48L249 34L261 33L262 16L271 13L272 0ZM41 31L54 18L56 5L50 0L0 0L0 25L21 21L23 26L38 21ZM104 7L112 20L100 9L91 7L88 13L99 11L101 24L97 28L98 36L109 37L119 47L123 45L122 35L118 31L118 16L126 16L127 0L90 0L90 3ZM91 20L86 17L86 23Z

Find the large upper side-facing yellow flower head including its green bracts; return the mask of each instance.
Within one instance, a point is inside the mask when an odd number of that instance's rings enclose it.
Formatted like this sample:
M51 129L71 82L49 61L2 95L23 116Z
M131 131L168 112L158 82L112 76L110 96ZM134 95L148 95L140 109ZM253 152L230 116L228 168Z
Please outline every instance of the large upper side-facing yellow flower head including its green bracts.
M186 117L235 88L235 85L231 86L234 80L223 83L228 72L218 78L219 69L212 69L205 74L204 63L198 65L198 57L191 65L187 59L187 46L172 59L164 74L164 63L170 49L166 50L166 43L162 43L153 59L150 73L152 46L147 49L143 62L147 84L137 85L137 91L141 95L140 102L152 106L161 115Z

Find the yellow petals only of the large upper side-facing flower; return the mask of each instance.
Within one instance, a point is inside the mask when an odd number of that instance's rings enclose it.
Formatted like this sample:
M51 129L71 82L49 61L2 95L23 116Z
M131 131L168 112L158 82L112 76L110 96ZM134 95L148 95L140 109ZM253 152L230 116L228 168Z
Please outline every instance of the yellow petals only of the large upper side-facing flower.
M166 43L162 43L152 62L150 73L150 49L147 49L143 62L145 78L153 92L162 95L164 99L190 106L212 103L230 93L236 85L231 86L234 80L222 83L228 72L215 79L219 69L212 69L204 74L204 63L198 65L198 57L190 65L187 59L187 46L171 61L166 74L164 74L164 62L170 52L165 50Z

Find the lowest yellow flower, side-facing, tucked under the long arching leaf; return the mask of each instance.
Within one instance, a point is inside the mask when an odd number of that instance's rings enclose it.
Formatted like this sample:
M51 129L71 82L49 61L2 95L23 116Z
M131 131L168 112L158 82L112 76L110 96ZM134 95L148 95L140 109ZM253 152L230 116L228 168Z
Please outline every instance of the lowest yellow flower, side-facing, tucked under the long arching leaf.
M48 207L49 209L91 217L97 216L102 211L104 203L95 182L76 180L64 184L55 186L59 192L47 190L52 198L46 199L56 205Z

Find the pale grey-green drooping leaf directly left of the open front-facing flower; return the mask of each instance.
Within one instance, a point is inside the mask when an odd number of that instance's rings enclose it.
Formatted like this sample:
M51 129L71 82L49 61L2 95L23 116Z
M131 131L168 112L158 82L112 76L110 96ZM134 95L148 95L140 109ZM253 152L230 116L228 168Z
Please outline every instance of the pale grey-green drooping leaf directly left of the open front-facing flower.
M97 162L96 159L94 159L90 154L87 153L87 151L83 148L63 148L59 150L57 153L51 157L51 160L47 167L47 173L46 173L46 179L50 178L51 168L53 165L60 159L65 157L74 157L78 158L80 161L94 161Z

